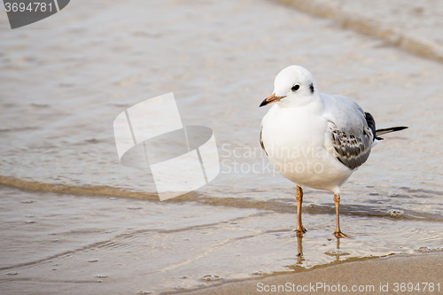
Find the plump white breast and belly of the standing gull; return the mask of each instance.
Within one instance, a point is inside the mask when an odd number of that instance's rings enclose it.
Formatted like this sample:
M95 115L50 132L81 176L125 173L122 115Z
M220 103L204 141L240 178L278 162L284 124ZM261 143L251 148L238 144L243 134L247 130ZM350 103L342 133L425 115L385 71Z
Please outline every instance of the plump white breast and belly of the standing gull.
M318 104L273 105L262 120L261 140L277 172L299 185L339 192L352 171L324 149L327 120Z

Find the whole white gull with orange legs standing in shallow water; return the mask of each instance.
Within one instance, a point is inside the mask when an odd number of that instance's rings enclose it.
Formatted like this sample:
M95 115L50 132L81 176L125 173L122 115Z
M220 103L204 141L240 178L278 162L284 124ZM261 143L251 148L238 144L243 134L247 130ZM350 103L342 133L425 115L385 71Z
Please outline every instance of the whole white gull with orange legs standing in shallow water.
M334 194L334 236L340 230L340 185L369 157L379 137L408 127L376 129L376 121L349 97L320 93L314 76L302 66L276 75L274 93L260 106L273 104L261 121L260 145L274 169L296 184L297 235L303 190L307 186Z

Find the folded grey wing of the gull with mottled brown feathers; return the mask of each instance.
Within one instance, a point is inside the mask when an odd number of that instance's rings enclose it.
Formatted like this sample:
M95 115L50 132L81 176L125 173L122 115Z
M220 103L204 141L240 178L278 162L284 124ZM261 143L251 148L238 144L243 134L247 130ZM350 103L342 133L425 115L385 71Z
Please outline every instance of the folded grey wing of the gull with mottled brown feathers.
M369 158L375 120L349 98L331 98L339 102L340 107L330 107L324 147L343 165L354 170Z

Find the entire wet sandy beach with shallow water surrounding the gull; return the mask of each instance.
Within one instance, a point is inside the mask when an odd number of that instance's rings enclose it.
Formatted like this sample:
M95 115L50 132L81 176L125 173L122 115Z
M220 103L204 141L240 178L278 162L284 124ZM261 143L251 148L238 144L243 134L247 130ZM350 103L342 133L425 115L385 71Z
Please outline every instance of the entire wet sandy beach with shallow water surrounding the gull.
M0 10L0 293L443 293L441 16L431 0L79 0L12 30ZM296 237L293 183L260 148L260 101L291 64L409 127L343 186L339 244L320 190ZM221 167L160 202L151 171L120 164L113 120L169 92Z

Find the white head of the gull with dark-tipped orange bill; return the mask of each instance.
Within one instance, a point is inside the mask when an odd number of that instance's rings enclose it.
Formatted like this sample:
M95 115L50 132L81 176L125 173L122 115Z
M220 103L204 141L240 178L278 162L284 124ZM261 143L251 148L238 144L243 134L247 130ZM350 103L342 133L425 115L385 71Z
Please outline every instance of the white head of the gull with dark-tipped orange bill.
M260 106L279 103L281 105L307 105L318 97L314 76L303 66L288 66L276 75L274 93L263 100Z

